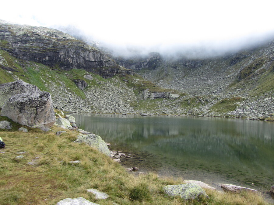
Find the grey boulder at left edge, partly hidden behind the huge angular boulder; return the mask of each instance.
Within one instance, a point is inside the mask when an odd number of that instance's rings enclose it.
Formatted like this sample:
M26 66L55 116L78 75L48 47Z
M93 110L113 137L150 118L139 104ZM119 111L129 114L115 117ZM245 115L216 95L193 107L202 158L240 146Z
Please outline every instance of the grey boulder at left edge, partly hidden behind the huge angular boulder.
M0 108L15 94L40 92L35 85L28 84L23 80L0 84Z

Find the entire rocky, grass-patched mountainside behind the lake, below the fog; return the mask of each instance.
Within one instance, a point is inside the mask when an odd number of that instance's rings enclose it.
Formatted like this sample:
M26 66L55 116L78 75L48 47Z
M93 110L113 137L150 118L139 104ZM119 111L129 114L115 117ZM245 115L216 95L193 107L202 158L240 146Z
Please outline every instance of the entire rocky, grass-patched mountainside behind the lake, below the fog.
M71 112L272 120L273 49L270 41L211 59L152 52L114 60L61 31L0 20L0 83L24 80Z

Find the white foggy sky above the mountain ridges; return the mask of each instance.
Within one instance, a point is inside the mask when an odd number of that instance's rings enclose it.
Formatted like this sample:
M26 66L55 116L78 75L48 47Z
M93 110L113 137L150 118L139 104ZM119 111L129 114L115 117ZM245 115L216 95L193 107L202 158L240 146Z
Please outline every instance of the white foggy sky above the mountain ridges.
M1 7L0 19L71 28L117 55L210 56L274 38L273 0L5 1Z

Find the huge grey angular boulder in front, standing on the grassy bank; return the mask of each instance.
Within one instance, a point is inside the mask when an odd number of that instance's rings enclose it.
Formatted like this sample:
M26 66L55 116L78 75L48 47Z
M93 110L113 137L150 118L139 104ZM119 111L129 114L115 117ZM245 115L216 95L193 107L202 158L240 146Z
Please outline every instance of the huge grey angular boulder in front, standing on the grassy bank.
M13 95L4 104L1 115L44 131L48 131L55 122L51 95L44 91Z

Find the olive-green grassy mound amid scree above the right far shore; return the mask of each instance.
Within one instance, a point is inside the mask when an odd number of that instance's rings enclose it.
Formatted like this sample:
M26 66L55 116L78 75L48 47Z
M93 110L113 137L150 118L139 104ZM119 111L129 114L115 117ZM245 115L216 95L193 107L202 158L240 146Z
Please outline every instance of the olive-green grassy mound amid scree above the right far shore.
M214 104L210 108L210 110L215 112L220 112L220 113L234 111L237 108L237 103L241 101L244 101L244 98L242 97L224 98L223 100Z

